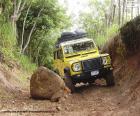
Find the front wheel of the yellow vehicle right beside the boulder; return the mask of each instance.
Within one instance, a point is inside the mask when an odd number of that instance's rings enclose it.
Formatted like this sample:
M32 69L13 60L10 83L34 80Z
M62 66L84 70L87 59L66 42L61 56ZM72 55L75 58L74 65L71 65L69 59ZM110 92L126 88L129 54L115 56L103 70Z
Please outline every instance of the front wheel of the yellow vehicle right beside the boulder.
M68 76L65 77L64 81L65 81L66 86L71 90L71 92L72 93L75 92L75 86L72 83L71 77L68 77Z

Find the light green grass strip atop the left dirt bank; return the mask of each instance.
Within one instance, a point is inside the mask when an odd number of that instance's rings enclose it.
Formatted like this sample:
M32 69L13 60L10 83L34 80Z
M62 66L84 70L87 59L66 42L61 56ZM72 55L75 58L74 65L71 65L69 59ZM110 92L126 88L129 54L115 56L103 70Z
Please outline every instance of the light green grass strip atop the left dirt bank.
M36 65L30 59L19 53L17 47L17 39L15 31L10 22L0 22L0 52L4 54L4 59L7 61L18 62L22 70L32 72L36 69Z

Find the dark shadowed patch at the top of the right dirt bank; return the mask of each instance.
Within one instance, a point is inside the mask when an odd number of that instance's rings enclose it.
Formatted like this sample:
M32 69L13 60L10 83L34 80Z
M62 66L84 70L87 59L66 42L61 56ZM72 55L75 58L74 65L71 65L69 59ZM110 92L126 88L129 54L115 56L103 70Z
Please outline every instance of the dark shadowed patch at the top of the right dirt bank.
M127 22L120 29L122 42L127 53L132 55L140 50L140 16Z

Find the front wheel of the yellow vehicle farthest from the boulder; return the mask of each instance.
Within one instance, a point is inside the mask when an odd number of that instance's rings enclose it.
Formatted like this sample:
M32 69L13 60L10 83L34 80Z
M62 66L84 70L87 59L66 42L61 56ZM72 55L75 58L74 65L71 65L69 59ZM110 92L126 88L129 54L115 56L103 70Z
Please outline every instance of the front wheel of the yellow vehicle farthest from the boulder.
M112 71L107 73L105 80L106 80L107 86L114 86L115 85L114 76L113 76Z

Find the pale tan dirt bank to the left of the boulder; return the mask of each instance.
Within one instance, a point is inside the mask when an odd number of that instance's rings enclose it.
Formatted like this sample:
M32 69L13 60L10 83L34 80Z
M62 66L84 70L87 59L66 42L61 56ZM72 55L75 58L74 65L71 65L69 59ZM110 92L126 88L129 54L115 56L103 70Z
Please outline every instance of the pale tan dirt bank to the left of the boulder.
M13 63L16 64L16 63ZM17 67L5 63L0 63L0 98L14 98L18 97L22 91L28 88L28 79L24 78L27 75L23 75ZM23 79L24 78L24 79Z

